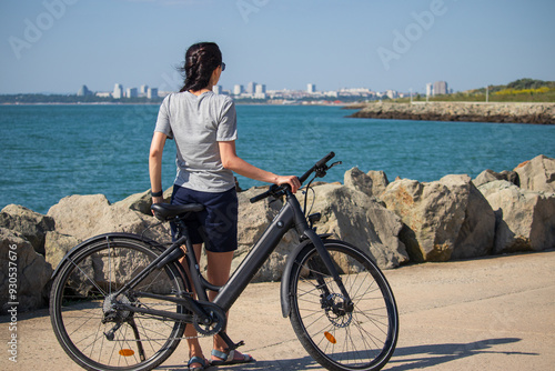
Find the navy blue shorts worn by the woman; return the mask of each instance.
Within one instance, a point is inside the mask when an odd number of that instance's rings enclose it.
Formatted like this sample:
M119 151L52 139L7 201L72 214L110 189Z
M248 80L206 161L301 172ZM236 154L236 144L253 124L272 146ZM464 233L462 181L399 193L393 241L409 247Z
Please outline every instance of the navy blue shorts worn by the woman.
M229 252L238 249L238 194L234 188L221 193L193 191L173 186L172 204L201 203L204 210L186 221L193 243L205 242L212 252ZM172 223L172 237L176 229Z

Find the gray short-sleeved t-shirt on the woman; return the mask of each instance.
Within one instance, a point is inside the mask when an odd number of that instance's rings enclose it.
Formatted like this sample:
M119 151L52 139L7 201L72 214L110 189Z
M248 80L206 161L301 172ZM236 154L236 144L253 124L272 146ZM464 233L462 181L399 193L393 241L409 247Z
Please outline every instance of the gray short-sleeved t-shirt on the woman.
M200 97L188 91L171 93L160 106L154 131L175 140L176 186L213 193L235 187L218 146L238 138L235 104L230 97L212 91Z

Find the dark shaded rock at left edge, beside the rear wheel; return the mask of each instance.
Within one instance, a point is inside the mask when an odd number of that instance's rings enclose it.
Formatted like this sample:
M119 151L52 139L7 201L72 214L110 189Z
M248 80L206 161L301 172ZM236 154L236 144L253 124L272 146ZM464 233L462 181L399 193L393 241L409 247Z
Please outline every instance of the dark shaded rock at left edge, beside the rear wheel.
M11 269L13 263L17 272ZM22 234L0 228L0 264L2 313L10 309L10 302L19 302L19 312L46 307L52 267ZM14 297L10 295L10 283L17 284Z

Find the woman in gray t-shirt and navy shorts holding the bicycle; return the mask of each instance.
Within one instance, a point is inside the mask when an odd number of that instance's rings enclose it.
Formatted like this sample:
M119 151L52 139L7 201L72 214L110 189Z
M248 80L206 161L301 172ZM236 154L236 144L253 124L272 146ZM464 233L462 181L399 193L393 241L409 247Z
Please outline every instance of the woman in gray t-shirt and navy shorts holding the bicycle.
M263 182L289 183L293 192L301 187L296 177L276 176L238 157L235 106L228 96L212 92L224 69L222 53L215 43L202 42L188 49L182 68L184 86L179 93L168 96L160 107L149 159L152 202L163 202L162 152L168 138L175 140L178 174L171 203L205 205L198 215L199 224L190 228L190 233L194 252L200 257L203 240L198 231L205 231L206 277L216 285L229 280L233 251L238 249L238 199L233 172ZM210 292L210 300L215 294ZM194 328L188 325L185 335L195 334ZM208 360L198 339L188 339L188 343L189 369L203 370ZM238 351L228 354L225 349L225 342L215 335L213 364L252 361L250 355Z

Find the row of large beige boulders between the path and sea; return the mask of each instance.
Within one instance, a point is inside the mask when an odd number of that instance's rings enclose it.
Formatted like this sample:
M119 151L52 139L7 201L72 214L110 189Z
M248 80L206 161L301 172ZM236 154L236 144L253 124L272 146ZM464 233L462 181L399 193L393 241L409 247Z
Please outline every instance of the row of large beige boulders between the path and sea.
M484 170L474 180L454 174L433 182L397 179L390 183L382 171L364 173L353 168L345 172L343 184L320 183L313 189L314 193L297 197L301 201L307 197L312 212L322 214L317 232L355 244L384 269L555 248L555 160L544 156L512 171ZM239 193L240 247L233 267L282 205L282 200L249 202L262 191ZM17 245L19 309L47 304L53 269L88 238L117 231L142 233L148 228L149 238L169 242L169 225L152 217L150 202L145 191L113 204L102 194L70 195L46 215L7 205L0 212L0 263L8 267L8 250ZM287 232L254 281L280 280L296 243L295 233ZM93 262L90 269L93 272ZM9 302L8 282L2 269L2 304Z

